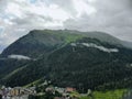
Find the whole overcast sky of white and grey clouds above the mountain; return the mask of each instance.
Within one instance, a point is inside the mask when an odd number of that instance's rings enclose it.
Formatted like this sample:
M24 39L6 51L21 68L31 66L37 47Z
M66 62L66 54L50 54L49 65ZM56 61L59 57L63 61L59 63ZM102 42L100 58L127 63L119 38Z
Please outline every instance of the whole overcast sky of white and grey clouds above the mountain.
M102 31L132 42L132 0L0 0L0 52L34 29Z

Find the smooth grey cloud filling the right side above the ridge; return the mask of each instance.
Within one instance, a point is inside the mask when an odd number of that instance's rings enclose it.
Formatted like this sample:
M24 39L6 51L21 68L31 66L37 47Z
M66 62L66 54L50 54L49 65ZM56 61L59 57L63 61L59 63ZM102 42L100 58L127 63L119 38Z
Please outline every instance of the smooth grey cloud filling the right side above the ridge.
M97 0L94 7L97 13L87 14L65 22L67 29L81 31L103 31L121 40L132 41L131 0Z

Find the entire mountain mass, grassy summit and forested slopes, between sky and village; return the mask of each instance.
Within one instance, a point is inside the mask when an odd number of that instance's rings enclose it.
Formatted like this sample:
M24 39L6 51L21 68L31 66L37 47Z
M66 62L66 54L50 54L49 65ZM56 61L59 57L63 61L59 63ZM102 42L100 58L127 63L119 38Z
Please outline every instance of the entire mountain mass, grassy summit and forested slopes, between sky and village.
M79 90L127 88L132 82L132 44L102 32L34 30L0 55L0 82L37 79Z

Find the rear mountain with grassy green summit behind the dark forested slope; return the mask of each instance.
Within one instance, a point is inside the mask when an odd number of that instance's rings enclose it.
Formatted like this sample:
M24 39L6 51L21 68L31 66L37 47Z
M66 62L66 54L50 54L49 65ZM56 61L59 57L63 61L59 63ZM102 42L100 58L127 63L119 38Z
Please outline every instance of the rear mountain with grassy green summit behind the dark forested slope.
M129 42L120 41L109 34L103 32L79 32L70 30L34 30L28 35L22 36L16 42L8 46L1 54L2 57L8 57L9 55L24 55L32 58L37 58L42 53L48 53L57 47L61 47L69 42L76 41L84 36L90 38L97 38L101 42L113 44L117 46L124 46L131 48Z

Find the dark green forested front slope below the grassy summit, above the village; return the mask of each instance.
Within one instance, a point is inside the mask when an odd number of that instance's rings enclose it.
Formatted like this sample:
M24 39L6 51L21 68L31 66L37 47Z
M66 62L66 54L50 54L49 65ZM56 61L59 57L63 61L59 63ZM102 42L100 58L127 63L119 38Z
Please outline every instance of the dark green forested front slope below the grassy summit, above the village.
M82 43L94 43L108 50L87 47ZM29 64L22 70L6 79L9 86L23 86L40 78L52 80L56 86L76 87L80 90L114 89L131 86L132 51L117 47L96 38L81 38L51 53L46 58ZM14 80L15 79L15 80ZM82 89L84 88L84 89Z

